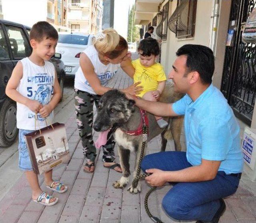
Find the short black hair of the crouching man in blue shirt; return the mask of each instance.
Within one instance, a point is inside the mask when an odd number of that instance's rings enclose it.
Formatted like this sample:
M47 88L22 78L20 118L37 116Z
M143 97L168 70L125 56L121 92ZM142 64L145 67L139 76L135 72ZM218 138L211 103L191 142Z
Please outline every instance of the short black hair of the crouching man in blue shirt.
M209 47L203 45L186 44L176 52L176 56L186 55L186 74L197 71L202 83L212 83L214 72L214 55Z

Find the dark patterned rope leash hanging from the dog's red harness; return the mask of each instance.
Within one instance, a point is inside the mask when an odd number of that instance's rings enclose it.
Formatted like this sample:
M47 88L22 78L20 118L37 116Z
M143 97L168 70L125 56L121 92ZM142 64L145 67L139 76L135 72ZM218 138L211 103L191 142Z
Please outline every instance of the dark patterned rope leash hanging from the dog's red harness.
M143 116L143 122L144 122L144 125L142 128L142 146L141 146L141 152L140 152L140 160L139 160L136 176L132 181L133 188L138 186L138 182L140 179L145 179L145 177L150 175L150 174L140 174L140 165L144 156L144 150L145 150L146 142L148 139L148 126L146 126L145 124L145 116ZM154 190L156 190L156 187L150 188L149 191L146 193L146 196L144 199L144 207L145 207L146 213L148 214L148 217L150 217L150 219L154 221L154 223L163 223L158 217L154 217L148 209L148 197Z

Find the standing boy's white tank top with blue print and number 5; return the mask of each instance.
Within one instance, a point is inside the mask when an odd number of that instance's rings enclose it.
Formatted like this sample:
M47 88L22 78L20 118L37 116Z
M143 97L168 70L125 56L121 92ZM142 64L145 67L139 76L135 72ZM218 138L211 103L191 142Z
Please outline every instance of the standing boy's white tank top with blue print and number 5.
M44 61L44 66L38 66L28 57L20 60L23 66L23 76L17 87L17 91L26 98L39 101L42 105L47 105L53 95L55 80L54 65L49 61ZM18 63L19 63L18 62ZM37 114L40 128L46 127L45 119ZM47 117L47 124L53 121L53 111ZM25 105L17 102L17 128L26 130L38 130L38 122L35 128L35 113Z

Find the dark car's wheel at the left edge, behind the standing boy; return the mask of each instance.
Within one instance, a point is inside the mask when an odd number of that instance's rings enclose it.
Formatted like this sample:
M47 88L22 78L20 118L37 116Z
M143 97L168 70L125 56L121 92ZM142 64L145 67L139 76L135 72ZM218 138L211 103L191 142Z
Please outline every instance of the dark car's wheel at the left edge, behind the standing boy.
M16 140L18 134L16 113L16 103L7 98L0 110L0 146L10 146Z

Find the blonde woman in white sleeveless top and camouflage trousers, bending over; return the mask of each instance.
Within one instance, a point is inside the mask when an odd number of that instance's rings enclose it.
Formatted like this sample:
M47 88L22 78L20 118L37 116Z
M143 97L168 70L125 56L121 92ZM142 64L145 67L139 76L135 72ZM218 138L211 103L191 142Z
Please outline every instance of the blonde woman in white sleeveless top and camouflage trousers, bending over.
M80 55L80 68L75 76L75 109L79 135L82 140L83 153L86 158L84 172L94 172L96 148L92 139L93 103L98 107L98 101L104 93L111 90L106 87L120 68L121 61L127 59L128 44L114 29L103 30L94 37L93 45L88 46ZM138 94L142 87L139 83L131 85L122 91ZM102 161L104 166L122 172L115 163L115 142L110 138L103 147Z

